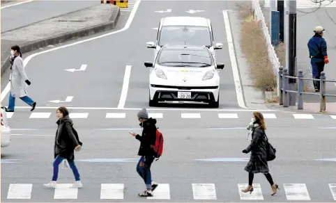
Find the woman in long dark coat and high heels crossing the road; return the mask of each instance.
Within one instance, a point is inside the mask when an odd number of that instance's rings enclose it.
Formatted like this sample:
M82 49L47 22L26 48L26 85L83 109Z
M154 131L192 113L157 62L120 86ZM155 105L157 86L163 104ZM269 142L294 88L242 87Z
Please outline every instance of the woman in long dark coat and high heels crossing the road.
M253 178L254 173L263 173L270 183L272 188L271 195L277 193L278 185L274 184L272 176L269 173L268 164L267 164L267 138L266 138L266 125L264 122L264 116L259 112L253 113L253 126L252 126L252 141L251 144L243 150L243 153L247 154L251 152L250 161L247 163L245 170L248 172L248 186L243 193L253 191Z

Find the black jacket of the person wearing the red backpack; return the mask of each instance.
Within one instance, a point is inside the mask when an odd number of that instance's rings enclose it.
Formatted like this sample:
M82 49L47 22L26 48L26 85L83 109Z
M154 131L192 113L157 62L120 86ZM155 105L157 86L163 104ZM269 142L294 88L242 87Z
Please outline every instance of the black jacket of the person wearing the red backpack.
M155 145L156 140L156 119L148 118L148 120L144 121L140 124L143 127L142 136L135 136L137 140L140 141L139 147L139 156L153 156L155 153L151 148L151 145Z

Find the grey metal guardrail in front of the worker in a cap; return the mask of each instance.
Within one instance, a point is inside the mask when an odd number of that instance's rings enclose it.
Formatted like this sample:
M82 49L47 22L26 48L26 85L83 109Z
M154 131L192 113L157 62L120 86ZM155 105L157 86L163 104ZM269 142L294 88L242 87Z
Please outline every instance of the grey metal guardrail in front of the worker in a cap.
M298 70L298 76L289 76L287 68L279 67L277 76L279 78L279 104L284 107L289 106L289 92L298 94L298 110L303 109L303 95L319 95L320 112L322 113L326 112L326 97L336 97L336 95L326 94L326 82L336 83L336 80L326 80L325 72L321 72L320 79L309 79L303 77L303 70ZM297 79L298 91L289 90L289 79ZM320 92L303 92L303 81L320 81Z

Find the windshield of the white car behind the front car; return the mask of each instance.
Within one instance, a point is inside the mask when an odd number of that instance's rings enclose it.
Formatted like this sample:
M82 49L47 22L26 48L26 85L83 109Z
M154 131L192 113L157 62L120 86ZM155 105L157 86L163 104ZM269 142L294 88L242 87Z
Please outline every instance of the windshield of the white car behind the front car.
M162 26L158 44L212 47L211 33L204 26Z

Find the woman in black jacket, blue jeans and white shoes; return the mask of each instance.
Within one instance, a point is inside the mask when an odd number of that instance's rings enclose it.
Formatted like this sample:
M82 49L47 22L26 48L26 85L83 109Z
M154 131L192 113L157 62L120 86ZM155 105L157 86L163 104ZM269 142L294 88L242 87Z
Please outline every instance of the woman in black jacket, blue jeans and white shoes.
M79 172L75 165L75 152L81 149L82 143L77 140L75 134L72 131L72 120L69 117L69 111L66 107L59 107L56 111L58 128L56 131L55 141L54 141L54 175L52 176L52 181L49 184L44 184L48 188L55 188L56 181L59 175L59 164L63 160L67 160L73 174L75 175L75 184L70 188L82 188L83 184L79 177Z

